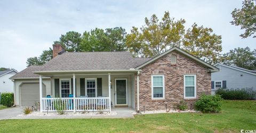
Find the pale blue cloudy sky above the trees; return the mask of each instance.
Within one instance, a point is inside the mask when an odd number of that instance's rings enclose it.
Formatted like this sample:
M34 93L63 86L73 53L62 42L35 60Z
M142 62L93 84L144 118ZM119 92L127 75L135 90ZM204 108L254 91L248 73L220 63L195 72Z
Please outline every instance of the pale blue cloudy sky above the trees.
M41 55L53 41L68 31L83 33L94 28L145 24L145 17L165 11L175 20L185 19L186 29L193 23L209 27L222 36L222 53L236 47L256 49L255 38L242 39L243 30L231 25L231 12L242 1L0 1L0 67L21 71L28 57Z

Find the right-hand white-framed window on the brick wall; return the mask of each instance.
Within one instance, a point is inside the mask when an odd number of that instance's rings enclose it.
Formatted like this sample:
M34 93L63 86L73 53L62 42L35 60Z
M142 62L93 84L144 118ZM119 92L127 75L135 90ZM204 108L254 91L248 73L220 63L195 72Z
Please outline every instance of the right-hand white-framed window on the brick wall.
M196 75L184 75L184 97L196 98Z

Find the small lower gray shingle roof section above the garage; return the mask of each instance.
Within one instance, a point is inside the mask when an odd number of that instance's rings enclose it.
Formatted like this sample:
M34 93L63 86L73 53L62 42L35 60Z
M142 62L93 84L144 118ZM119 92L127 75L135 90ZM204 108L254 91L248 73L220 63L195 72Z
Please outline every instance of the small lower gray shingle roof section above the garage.
M38 71L41 69L41 65L30 65L28 68L22 70L21 72L15 74L10 79L15 78L38 78L39 75L33 73L33 71Z

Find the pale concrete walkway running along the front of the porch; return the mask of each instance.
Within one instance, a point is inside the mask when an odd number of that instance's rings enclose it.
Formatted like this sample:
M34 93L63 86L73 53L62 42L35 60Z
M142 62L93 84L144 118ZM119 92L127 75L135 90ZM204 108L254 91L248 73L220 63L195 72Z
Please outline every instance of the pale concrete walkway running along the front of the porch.
M16 115L9 119L133 119L133 112L129 107L115 107L110 115Z

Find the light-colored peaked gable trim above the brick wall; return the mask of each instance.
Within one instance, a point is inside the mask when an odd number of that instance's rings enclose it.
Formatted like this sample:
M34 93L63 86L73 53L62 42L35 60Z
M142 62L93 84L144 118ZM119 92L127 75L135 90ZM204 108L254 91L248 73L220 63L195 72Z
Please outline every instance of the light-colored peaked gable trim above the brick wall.
M192 60L198 62L199 64L202 64L202 65L206 66L207 68L210 69L211 72L219 71L219 69L216 68L215 66L213 66L213 65L211 65L211 64L208 64L208 63L206 63L206 62L204 62L204 61L198 59L198 58L195 57L194 55L191 55L191 54L189 54L189 53L183 51L182 49L180 49L180 48L178 48L178 47L176 47L176 46L175 46L175 47L172 47L172 48L169 49L168 51L166 51L166 52L164 52L164 53L162 53L162 54L160 54L160 55L154 57L153 59L151 59L151 60L149 60L149 61L147 61L147 62L145 62L145 63L143 63L143 64L141 64L141 65L138 65L135 69L141 69L141 68L143 68L144 66L146 66L146 65L148 65L148 64L150 64L150 63L156 61L157 59L163 57L163 56L166 55L166 54L169 54L169 53L172 52L172 51L177 51L177 52L179 52L179 53L181 53L181 54L183 54L183 55L189 57L190 59L192 59Z

